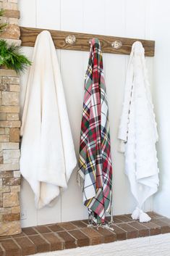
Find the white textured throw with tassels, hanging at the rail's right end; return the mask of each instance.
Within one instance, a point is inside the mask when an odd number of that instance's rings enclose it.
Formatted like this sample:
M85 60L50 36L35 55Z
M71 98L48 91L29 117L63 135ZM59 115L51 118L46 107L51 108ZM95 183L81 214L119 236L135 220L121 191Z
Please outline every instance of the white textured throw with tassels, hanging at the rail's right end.
M132 194L137 200L133 219L149 221L142 210L143 203L158 190L158 160L156 157L156 128L150 96L145 51L135 42L129 57L122 117L119 125L120 151L125 155L125 173Z

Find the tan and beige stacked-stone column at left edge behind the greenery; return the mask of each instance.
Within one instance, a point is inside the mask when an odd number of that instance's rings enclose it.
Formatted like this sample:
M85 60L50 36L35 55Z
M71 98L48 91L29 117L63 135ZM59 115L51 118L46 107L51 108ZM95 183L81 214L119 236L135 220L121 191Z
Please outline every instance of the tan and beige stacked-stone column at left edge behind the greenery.
M0 38L20 46L17 0L0 0L1 8L4 9L2 22L8 25ZM0 69L0 236L21 232L19 94L18 75L14 70Z

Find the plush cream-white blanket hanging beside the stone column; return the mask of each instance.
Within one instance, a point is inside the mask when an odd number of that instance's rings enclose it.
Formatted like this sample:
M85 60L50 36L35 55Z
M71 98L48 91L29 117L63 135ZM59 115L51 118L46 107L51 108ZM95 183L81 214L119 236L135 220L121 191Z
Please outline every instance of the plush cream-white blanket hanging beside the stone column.
M76 166L56 49L48 31L35 42L22 114L20 171L35 194L35 206L59 195Z

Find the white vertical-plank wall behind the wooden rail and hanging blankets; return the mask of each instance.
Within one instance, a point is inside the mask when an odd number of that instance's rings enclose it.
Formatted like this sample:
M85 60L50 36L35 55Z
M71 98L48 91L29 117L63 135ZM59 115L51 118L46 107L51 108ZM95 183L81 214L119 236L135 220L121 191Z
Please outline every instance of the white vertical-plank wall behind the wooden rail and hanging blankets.
M21 12L20 25L35 28L71 30L84 33L98 33L111 36L149 38L148 3L150 0L19 0ZM25 47L25 54L31 57L33 48ZM85 70L88 65L88 52L57 50L64 92L67 100L69 120L78 156L80 121ZM111 123L111 149L114 165L114 214L132 212L135 199L129 190L127 177L124 176L124 157L117 152L116 139L119 116L124 96L124 80L128 57L116 54L103 54L106 76L106 89L109 96ZM153 59L147 58L150 81ZM21 106L25 94L27 73L22 76ZM87 217L82 206L82 192L77 186L76 170L69 186L62 191L54 207L35 210L33 192L26 181L22 181L22 212L27 218L22 226L41 225ZM145 209L152 208L152 199Z

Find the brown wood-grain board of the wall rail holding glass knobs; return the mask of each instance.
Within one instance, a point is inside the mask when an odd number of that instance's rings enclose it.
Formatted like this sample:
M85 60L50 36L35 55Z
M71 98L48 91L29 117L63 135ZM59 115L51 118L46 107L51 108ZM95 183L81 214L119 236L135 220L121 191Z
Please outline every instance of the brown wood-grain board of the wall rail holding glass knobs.
M34 46L36 37L43 29L40 28L25 28L20 27L22 46ZM153 57L155 53L155 41L148 41L137 38L122 38L115 36L101 36L87 33L75 33L60 30L48 30L54 41L56 49L75 50L75 51L89 51L89 40L97 37L101 41L102 51L112 54L130 54L132 44L135 41L140 41L145 48L145 56ZM67 44L65 38L69 35L76 37L75 44ZM113 49L111 43L119 40L122 41L120 49Z

